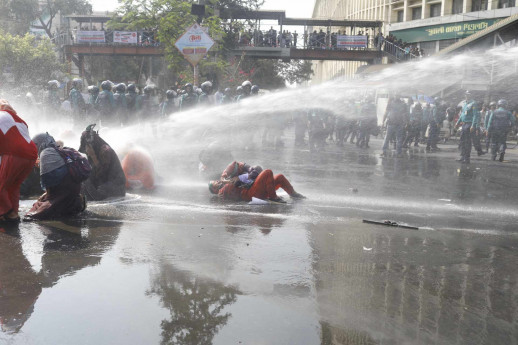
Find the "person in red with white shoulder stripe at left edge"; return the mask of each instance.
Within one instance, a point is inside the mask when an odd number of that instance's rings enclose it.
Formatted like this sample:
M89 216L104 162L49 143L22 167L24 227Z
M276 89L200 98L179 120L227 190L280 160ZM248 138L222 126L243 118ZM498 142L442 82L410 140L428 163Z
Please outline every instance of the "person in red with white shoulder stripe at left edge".
M27 124L9 102L0 99L0 223L20 220L20 186L37 158Z

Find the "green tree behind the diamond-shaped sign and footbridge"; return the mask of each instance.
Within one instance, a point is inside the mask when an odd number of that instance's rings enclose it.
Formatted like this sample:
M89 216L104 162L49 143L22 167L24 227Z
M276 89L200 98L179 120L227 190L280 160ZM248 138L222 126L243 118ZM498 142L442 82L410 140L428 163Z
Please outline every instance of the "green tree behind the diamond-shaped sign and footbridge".
M215 46L206 59L199 63L200 77L210 79L216 85L228 79L229 62L225 52L233 47L235 40L229 38L233 28L245 25L239 22L223 22L216 10L258 9L263 0L208 0L202 25L209 29ZM121 0L116 16L109 23L111 29L138 30L152 28L164 48L166 61L178 81L192 82L192 67L185 61L174 44L185 29L199 18L191 14L192 1L182 0Z

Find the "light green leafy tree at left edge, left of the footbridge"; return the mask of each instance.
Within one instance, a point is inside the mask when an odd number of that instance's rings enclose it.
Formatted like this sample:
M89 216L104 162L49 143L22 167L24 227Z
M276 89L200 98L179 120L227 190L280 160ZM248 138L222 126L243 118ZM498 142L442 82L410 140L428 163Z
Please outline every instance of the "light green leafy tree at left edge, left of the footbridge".
M9 70L19 84L44 84L63 71L48 39L0 32L0 71Z

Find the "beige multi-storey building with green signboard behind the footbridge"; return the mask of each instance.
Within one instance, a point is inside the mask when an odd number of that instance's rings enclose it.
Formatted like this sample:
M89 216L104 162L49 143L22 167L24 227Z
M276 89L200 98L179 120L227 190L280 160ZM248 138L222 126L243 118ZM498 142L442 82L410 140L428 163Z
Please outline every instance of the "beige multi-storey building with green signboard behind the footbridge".
M315 0L313 18L382 20L385 35L390 33L433 55L516 13L515 0ZM315 62L313 83L354 78L364 64Z

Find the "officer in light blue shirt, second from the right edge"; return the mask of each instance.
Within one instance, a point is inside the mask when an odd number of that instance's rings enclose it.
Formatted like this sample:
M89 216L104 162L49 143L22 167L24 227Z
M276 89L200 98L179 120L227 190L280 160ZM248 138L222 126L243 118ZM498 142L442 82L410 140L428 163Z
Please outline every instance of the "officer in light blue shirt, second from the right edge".
M455 127L461 127L460 134L460 159L459 162L469 163L471 156L471 143L478 127L480 111L469 91L466 91L466 100L462 106L461 114Z

